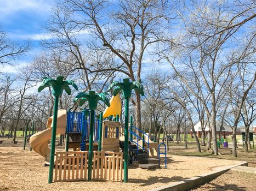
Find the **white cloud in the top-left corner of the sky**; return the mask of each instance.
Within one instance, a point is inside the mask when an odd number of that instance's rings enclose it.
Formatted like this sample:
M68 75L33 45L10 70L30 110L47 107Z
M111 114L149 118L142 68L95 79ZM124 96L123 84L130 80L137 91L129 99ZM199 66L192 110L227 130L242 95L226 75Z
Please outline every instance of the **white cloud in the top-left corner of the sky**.
M48 12L53 5L50 0L8 0L0 1L0 18L10 17L18 11L32 11L33 13L43 15Z

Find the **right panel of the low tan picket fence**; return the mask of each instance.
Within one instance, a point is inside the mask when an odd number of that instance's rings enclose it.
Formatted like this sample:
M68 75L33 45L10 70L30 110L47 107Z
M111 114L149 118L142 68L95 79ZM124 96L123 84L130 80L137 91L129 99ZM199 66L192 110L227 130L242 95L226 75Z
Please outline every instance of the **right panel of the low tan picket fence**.
M105 181L123 180L123 153L94 151L93 179Z

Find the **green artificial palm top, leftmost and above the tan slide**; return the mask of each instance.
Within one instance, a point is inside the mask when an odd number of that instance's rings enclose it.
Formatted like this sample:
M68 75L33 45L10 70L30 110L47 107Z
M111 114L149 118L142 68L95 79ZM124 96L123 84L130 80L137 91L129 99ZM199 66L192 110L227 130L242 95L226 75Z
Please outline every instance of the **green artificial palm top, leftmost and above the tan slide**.
M56 80L50 78L50 77L43 77L42 84L38 87L38 92L41 92L45 87L52 87L53 88L53 96L57 97L60 96L65 90L65 92L70 95L71 89L70 85L73 86L76 90L78 90L78 87L76 83L72 80L64 80L63 76L58 76Z

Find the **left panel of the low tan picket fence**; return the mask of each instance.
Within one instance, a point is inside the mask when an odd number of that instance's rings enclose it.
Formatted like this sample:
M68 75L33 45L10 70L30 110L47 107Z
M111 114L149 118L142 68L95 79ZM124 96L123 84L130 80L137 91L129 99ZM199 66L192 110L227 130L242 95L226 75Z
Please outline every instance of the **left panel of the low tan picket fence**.
M54 182L87 180L87 158L87 151L56 152Z

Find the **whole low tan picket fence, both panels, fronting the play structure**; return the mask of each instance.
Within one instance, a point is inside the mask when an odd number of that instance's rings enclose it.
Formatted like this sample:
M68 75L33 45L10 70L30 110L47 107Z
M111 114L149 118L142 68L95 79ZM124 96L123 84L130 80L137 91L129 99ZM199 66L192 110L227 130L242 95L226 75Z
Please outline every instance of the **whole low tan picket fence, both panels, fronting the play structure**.
M93 179L123 180L123 153L94 151ZM56 152L54 182L87 180L87 151Z

